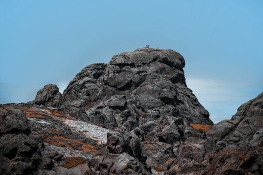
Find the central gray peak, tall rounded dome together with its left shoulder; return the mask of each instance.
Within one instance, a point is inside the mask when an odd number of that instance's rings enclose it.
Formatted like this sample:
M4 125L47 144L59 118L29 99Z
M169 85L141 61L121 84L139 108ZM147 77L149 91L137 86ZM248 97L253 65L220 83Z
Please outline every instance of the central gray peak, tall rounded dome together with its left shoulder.
M184 65L183 56L171 49L139 48L116 54L107 65L91 64L78 73L59 108L109 128L126 122L132 129L145 122L139 119L142 114L145 120L171 115L183 117L186 123L212 124L186 86ZM129 113L133 124L116 119L122 113Z

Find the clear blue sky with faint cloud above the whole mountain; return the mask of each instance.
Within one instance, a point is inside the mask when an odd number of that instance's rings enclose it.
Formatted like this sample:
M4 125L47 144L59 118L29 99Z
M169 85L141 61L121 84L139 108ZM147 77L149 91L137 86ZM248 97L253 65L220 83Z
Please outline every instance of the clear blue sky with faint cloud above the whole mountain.
M262 0L0 0L0 103L63 90L86 65L150 44L186 61L214 122L263 91Z

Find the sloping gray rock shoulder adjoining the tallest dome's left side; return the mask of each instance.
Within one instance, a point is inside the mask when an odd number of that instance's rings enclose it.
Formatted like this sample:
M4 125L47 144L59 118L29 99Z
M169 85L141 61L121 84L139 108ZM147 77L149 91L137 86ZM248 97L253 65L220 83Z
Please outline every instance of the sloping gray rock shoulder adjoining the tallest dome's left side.
M85 109L92 107L99 98L105 67L104 63L95 63L83 68L64 90L59 108L71 116L87 120Z

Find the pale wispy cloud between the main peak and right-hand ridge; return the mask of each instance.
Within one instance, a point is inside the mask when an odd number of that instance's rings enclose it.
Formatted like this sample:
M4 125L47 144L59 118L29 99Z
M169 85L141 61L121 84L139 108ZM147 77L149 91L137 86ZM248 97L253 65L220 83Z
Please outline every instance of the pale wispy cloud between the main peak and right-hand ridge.
M214 123L229 119L247 95L236 88L238 82L225 82L217 79L186 77L187 86L200 103L209 111Z

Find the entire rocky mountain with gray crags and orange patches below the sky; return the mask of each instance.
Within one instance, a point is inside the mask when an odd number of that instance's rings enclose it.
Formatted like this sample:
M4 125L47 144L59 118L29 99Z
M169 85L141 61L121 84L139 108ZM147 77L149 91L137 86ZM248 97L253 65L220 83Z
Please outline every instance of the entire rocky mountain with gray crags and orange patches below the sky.
M0 108L1 174L260 174L263 93L217 124L184 58L140 48ZM13 140L13 141L12 141Z

